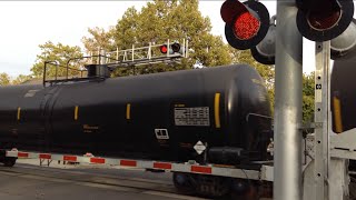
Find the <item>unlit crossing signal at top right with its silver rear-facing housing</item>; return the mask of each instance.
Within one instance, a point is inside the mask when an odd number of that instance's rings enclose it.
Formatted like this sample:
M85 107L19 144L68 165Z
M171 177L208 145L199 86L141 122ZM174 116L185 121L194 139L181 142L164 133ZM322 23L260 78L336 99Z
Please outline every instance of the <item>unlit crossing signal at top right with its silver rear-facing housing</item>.
M296 3L299 32L316 42L332 40L332 59L339 59L355 49L353 0L296 0Z

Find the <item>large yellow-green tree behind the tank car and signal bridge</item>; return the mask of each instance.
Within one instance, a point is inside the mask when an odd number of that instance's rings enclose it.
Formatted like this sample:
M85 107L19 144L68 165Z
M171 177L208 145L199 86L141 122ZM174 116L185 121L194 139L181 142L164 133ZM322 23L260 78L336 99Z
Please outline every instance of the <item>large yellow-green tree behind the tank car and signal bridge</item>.
M96 29L97 31L93 32L93 29L90 29L91 40L85 38L82 41L87 49L95 43L93 47L100 46L107 48L107 51L112 51L111 36L115 46L120 50L130 49L132 44L144 47L149 42L165 43L167 39L170 41L189 40L189 49L192 51L188 59L181 60L180 64L151 64L146 68L137 68L137 73L191 69L196 62L206 67L231 63L228 46L222 42L221 37L210 33L210 20L201 16L197 0L155 0L148 2L140 12L132 7L118 20L113 30L103 32L102 29ZM115 74L132 74L132 70L119 69Z

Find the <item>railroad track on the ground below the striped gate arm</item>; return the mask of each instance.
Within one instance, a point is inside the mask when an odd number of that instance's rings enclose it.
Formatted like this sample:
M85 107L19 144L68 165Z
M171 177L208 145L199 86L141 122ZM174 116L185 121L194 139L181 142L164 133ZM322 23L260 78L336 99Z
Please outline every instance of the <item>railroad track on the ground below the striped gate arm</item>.
M135 193L162 196L167 198L198 200L201 198L184 196L178 193L171 181L145 179L145 172L126 170L123 174L110 174L108 169L58 169L48 167L36 167L31 164L17 164L13 168L0 167L0 174L10 177L30 178L36 180L49 180L55 182L71 182L81 186L106 188L116 191L129 191ZM88 169L87 169L88 170ZM106 171L106 172L105 172ZM123 170L125 171L125 170ZM130 173L131 171L132 173ZM102 172L102 173L101 173ZM160 176L149 174L148 176ZM128 177L132 174L132 177ZM137 174L141 174L138 177ZM142 176L144 174L144 176ZM146 174L147 176L147 174Z

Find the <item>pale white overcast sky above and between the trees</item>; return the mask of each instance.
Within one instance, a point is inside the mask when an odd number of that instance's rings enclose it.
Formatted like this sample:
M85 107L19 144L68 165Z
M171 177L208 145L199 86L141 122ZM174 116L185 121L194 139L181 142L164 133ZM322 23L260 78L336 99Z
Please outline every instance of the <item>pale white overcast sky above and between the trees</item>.
M225 23L220 18L220 1L200 1L199 10L209 17L211 32L225 40ZM276 13L275 1L261 1L270 16ZM147 1L0 1L0 73L12 78L30 74L39 44L47 41L82 47L81 38L88 36L88 28L108 29L115 26L127 8L140 10ZM226 41L226 40L225 40ZM308 42L307 46L312 46ZM305 48L304 57L310 60L314 48ZM313 59L312 59L313 60ZM305 64L310 72L313 61Z

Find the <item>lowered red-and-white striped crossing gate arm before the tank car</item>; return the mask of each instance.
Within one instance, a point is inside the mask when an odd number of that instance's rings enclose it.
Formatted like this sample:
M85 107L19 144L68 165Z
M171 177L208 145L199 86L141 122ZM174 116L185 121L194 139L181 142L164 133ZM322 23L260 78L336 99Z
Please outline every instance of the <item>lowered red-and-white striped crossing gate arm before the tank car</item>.
M88 153L87 153L88 154ZM91 154L91 153L90 153ZM219 177L230 177L249 180L265 180L273 181L273 167L261 166L260 170L238 169L233 167L220 167L214 164L201 166L197 163L176 163L165 161L152 160L132 160L132 159L115 159L115 158L101 158L101 157L88 157L88 156L73 156L73 154L57 154L57 153L41 153L41 152L24 152L10 150L6 151L6 157L16 157L19 159L48 159L60 160L69 162L80 162L90 164L107 164L107 166L120 166L126 168L141 168L152 170L165 170L167 172L186 172L186 173L199 173L210 174Z

